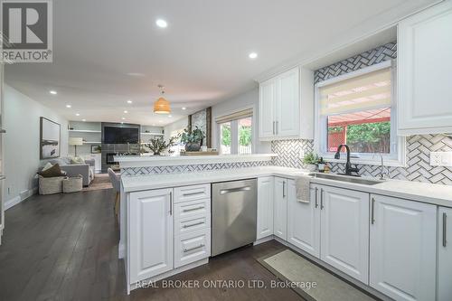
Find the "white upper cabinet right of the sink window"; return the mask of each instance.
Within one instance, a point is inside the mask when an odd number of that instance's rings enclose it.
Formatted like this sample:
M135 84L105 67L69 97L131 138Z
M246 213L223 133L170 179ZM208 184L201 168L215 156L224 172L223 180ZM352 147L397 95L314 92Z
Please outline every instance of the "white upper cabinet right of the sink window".
M398 27L399 135L452 132L452 3L414 14Z

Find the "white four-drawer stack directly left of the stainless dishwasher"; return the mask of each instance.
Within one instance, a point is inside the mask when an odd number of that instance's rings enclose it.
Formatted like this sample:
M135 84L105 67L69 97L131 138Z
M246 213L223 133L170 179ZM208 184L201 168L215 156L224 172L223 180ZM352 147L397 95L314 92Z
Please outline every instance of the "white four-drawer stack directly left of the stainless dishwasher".
M211 255L211 185L174 188L174 268Z

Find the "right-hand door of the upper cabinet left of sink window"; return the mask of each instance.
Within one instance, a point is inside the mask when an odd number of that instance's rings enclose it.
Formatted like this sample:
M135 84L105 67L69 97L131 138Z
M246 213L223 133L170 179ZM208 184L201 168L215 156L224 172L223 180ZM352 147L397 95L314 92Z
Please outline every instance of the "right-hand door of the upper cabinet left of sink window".
M277 136L299 136L300 133L300 82L298 68L278 76L277 86Z

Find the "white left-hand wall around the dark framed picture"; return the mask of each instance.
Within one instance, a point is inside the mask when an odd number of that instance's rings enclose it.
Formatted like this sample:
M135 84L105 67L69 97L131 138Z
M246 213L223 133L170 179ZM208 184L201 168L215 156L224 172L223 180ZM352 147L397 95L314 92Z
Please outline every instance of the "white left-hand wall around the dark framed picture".
M68 120L8 85L5 85L4 101L4 200L8 208L33 192L37 185L34 176L45 163L39 158L40 117L61 125L61 156L68 155Z

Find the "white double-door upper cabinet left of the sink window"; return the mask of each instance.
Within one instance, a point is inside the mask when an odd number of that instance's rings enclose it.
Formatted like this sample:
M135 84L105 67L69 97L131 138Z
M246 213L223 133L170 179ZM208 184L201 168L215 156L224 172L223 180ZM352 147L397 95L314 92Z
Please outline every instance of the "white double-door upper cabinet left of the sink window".
M313 137L314 75L295 68L259 84L259 138Z

